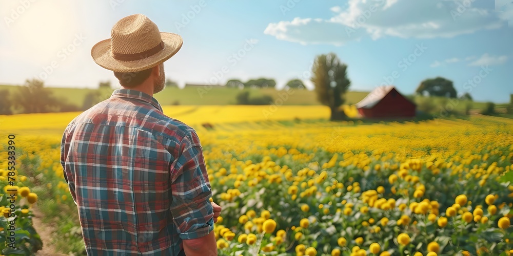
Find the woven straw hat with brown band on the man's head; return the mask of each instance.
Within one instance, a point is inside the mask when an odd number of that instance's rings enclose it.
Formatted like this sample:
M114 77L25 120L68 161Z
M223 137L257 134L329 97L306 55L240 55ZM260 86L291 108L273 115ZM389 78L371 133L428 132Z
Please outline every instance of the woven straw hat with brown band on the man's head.
M91 56L98 65L114 72L153 68L171 58L183 44L180 35L160 32L143 14L120 19L110 35L93 46Z

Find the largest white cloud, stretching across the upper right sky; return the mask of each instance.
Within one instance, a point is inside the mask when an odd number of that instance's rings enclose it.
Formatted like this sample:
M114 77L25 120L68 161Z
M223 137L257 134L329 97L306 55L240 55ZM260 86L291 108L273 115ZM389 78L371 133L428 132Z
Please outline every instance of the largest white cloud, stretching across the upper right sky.
M342 45L366 35L372 39L453 37L504 25L497 12L473 6L458 9L459 1L349 0L345 9L331 8L330 19L271 23L264 33L301 44Z

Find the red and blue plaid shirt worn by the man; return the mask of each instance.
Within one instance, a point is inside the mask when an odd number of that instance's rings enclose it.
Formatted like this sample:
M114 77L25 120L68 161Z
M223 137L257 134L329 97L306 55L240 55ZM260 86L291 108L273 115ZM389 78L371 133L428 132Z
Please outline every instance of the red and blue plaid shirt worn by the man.
M115 90L73 119L61 164L88 255L177 255L213 229L198 135L148 94Z

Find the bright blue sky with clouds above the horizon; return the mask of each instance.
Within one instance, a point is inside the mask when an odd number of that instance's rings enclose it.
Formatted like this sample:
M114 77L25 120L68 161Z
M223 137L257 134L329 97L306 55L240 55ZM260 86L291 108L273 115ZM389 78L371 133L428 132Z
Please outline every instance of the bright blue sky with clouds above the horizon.
M508 102L513 93L509 2L2 1L0 84L33 77L48 87L117 84L112 72L92 61L91 47L109 38L117 20L142 13L161 31L184 38L180 52L165 62L166 76L181 86L258 77L274 78L278 87L292 78L311 86L315 56L334 52L348 65L350 90L393 84L411 94L423 79L443 76L476 100Z

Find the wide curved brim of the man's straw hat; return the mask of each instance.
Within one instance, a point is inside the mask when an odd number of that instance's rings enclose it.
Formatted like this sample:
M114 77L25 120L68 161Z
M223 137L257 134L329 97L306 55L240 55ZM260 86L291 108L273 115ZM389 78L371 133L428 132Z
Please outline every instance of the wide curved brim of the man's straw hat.
M91 49L91 56L96 64L114 72L129 73L150 69L171 58L182 48L184 42L178 34L160 33L164 42L164 49L145 59L122 61L113 58L111 56L110 39L100 41L94 45Z

